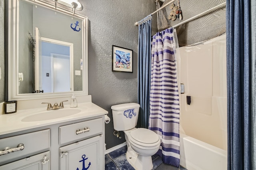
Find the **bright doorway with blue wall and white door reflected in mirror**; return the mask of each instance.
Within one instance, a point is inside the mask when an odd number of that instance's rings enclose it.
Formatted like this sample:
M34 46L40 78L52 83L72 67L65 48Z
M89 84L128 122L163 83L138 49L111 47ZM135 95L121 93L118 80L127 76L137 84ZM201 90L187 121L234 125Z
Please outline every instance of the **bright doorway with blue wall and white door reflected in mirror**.
M73 44L44 37L41 44L40 90L44 93L73 91Z

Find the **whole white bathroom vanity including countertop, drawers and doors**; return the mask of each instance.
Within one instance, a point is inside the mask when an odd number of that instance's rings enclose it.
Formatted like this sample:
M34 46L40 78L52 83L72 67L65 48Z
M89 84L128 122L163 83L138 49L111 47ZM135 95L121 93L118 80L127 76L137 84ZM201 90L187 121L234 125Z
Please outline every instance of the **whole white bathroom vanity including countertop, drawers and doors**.
M0 170L104 169L107 113L87 102L76 108L67 105L58 110L25 109L0 115Z

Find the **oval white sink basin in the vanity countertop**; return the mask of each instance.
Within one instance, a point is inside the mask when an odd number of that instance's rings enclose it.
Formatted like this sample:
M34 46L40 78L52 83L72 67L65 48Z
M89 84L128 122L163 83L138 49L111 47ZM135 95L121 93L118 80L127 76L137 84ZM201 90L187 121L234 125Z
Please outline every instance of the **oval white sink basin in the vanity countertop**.
M24 117L21 121L28 122L28 121L44 121L44 120L58 119L61 117L66 117L66 116L80 113L80 111L81 111L80 109L47 110L47 111L42 111L40 113L36 113L34 115L29 115L27 117Z

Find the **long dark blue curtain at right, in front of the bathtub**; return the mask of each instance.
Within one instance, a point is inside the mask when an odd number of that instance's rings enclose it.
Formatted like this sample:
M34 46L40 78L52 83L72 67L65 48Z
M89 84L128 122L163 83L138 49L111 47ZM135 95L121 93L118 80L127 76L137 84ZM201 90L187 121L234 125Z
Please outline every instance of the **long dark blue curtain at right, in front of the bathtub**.
M228 170L251 170L250 0L226 3Z

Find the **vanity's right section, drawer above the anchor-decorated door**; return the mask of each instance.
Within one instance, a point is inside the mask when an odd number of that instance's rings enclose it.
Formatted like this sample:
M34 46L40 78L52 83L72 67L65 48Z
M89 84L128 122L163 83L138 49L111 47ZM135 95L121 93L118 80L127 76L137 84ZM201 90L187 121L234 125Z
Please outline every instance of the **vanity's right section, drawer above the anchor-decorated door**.
M60 144L77 140L60 147L60 170L104 169L103 123L98 118L59 127Z

